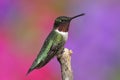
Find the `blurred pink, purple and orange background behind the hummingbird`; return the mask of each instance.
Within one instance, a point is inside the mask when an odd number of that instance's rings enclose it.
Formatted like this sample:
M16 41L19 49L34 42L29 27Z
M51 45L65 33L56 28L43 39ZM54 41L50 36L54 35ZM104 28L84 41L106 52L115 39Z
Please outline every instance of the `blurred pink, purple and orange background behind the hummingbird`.
M0 0L0 80L61 80L56 58L26 72L55 18L81 13L65 45L74 80L120 80L120 0Z

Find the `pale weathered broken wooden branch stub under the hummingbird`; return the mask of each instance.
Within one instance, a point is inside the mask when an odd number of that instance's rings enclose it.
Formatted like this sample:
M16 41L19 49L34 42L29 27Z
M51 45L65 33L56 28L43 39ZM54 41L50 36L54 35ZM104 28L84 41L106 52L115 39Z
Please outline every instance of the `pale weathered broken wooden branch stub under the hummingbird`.
M60 53L57 56L57 59L61 66L62 80L73 80L73 74L71 69L71 54L71 50L64 48L63 53Z

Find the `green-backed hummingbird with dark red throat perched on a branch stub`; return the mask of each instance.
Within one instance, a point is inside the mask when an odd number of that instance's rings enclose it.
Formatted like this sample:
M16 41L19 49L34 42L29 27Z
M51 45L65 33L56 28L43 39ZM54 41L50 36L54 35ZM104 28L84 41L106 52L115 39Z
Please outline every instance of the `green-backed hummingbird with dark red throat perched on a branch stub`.
M68 31L71 20L83 16L84 13L74 17L60 16L55 19L53 29L44 41L44 44L29 68L27 74L34 69L40 69L45 66L54 56L63 51L64 45L68 39Z

